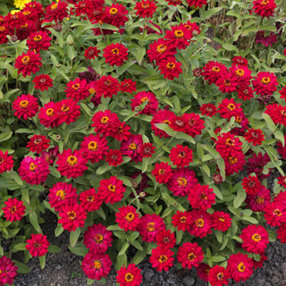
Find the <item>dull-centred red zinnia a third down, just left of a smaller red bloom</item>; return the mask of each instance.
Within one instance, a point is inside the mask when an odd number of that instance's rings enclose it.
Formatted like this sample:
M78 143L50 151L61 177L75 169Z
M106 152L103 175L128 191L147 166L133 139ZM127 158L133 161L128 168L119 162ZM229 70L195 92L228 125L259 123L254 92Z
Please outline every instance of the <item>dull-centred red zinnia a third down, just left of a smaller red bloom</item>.
M98 97L113 97L116 96L119 91L119 81L114 79L111 75L103 75L97 80L95 89Z

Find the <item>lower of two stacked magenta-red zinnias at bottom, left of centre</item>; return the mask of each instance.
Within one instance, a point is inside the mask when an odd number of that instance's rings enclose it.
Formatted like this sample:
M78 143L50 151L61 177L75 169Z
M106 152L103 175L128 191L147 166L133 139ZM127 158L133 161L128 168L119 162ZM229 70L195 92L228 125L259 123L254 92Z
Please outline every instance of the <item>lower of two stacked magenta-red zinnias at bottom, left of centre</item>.
M109 255L95 253L91 250L83 258L81 268L88 279L100 281L110 273L112 264Z

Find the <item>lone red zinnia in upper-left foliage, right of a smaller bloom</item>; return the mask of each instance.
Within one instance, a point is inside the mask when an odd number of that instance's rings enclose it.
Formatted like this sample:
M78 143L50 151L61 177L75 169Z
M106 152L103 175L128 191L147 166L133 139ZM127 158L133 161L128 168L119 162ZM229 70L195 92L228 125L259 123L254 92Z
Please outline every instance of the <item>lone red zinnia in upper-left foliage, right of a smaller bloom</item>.
M111 66L120 66L128 59L128 49L119 43L106 46L104 52L105 63L110 63Z

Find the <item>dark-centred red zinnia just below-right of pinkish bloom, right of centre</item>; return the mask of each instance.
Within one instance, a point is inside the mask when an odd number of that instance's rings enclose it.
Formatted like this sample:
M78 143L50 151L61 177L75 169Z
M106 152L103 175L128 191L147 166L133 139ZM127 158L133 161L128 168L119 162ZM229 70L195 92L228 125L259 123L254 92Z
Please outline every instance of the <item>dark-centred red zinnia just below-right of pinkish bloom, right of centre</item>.
M206 211L215 204L214 189L210 189L208 185L197 184L189 189L188 195L189 204L193 208Z

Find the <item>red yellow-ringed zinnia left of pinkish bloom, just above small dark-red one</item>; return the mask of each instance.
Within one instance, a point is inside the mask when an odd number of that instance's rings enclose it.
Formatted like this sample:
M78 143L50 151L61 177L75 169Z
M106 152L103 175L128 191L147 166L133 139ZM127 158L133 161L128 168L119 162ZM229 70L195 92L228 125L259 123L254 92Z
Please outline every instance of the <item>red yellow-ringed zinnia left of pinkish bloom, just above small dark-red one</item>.
M90 134L88 137L84 137L80 147L82 156L90 160L92 164L99 162L99 160L105 160L105 156L107 156L107 140L100 135Z

